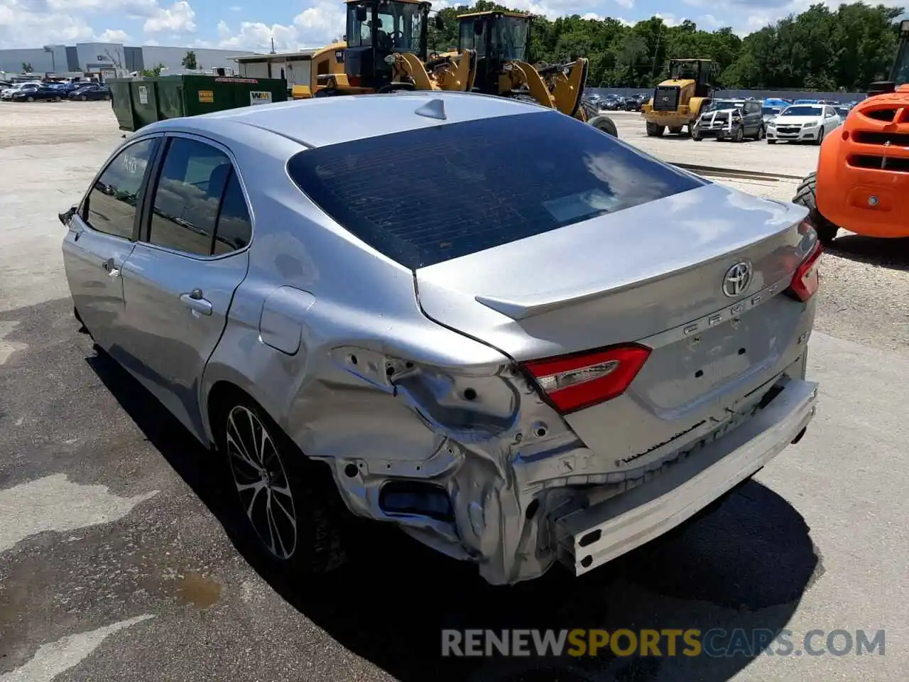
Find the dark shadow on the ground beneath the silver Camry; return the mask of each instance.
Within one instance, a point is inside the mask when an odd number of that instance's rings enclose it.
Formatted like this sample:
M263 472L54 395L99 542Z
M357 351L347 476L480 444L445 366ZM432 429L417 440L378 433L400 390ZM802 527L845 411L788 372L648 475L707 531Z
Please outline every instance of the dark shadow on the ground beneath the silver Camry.
M697 522L583 577L557 566L534 581L492 587L475 567L436 554L394 527L351 518L348 540L356 544L349 562L315 582L301 581L262 560L232 504L233 487L213 477L218 469L209 453L175 417L110 356L87 362L275 592L344 647L404 682L726 680L759 649L733 657L671 657L665 649L661 657L605 650L595 657L442 657L442 630L724 627L773 637L823 572L803 517L750 481ZM678 654L682 648L679 639Z

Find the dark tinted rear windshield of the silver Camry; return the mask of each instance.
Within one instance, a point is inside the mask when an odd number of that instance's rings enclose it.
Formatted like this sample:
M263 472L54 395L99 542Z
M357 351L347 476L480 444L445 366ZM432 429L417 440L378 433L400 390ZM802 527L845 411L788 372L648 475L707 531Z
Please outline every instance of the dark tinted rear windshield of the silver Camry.
M287 170L335 222L412 269L704 184L555 112L317 147Z

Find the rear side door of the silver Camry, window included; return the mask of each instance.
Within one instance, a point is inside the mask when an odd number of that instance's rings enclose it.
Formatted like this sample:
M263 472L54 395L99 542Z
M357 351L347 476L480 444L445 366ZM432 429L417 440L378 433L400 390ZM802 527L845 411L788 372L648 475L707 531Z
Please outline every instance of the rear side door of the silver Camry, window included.
M202 437L198 382L246 276L251 212L224 146L165 139L123 273L129 368Z

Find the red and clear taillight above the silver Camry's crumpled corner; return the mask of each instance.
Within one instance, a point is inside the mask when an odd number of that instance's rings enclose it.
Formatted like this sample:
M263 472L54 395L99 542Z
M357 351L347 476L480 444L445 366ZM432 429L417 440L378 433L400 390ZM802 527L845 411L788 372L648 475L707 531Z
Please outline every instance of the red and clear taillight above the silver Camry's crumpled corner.
M650 356L650 348L613 346L524 363L537 385L562 413L621 396Z

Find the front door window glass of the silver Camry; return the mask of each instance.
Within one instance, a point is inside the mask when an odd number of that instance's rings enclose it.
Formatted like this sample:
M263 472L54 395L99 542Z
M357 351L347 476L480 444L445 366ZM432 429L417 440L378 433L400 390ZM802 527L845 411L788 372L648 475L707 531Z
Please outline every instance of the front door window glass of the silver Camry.
M127 146L98 177L83 213L92 229L105 235L133 238L139 188L157 143L157 139L149 139Z

